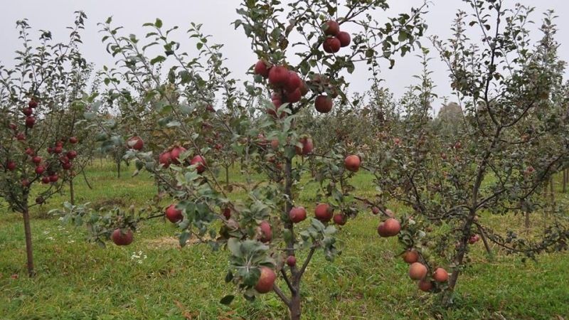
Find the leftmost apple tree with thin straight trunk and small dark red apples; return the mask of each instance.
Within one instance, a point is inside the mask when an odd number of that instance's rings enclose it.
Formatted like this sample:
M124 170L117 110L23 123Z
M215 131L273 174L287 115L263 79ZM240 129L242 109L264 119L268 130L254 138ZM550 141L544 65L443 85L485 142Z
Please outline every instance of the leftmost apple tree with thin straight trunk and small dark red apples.
M58 193L73 178L78 139L70 114L85 89L90 65L79 52L85 14L76 12L68 43L53 43L41 31L36 45L27 20L16 23L23 48L16 65L0 65L0 194L9 208L23 215L28 274L33 276L29 210ZM80 111L80 110L79 110ZM30 201L34 183L42 183ZM36 190L33 191L36 193Z

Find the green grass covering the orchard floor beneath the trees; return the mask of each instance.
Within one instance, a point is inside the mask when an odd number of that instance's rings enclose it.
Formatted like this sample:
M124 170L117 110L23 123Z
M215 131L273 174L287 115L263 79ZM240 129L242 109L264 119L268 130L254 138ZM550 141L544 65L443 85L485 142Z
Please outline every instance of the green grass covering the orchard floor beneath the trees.
M144 203L156 188L149 176L130 178L130 172L125 169L118 179L112 164L95 161L87 172L92 190L76 179L78 203ZM373 192L365 174L354 183ZM301 200L314 202L313 191L314 186L305 188ZM66 199L65 194L53 198L48 208ZM129 247L100 248L85 242L82 228L46 217L48 208L34 209L38 275L33 279L26 276L20 215L0 215L0 319L286 318L274 294L252 303L238 294L230 306L219 304L235 292L233 284L223 282L227 252L206 245L179 248L171 223L145 223ZM492 218L492 223L521 225L522 220ZM443 310L408 279L397 240L378 238L377 224L371 214L358 215L339 233L340 257L326 262L320 252L315 255L302 287L304 319L569 319L567 253L543 255L538 263L504 255L489 262L479 242L472 253L477 263L459 279L456 306Z

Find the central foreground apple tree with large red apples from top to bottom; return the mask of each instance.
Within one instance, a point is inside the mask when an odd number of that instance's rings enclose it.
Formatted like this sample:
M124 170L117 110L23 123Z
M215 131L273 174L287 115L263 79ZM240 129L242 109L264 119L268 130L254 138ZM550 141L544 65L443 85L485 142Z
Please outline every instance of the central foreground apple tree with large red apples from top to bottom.
M179 226L181 245L196 237L213 248L226 247L230 270L225 280L234 282L246 299L275 292L291 319L301 316L300 282L314 253L322 250L331 260L339 252L331 222L344 225L357 213L349 178L361 164L355 148L342 144L313 153L318 146L299 121L301 110L314 106L319 113L330 112L336 97L348 99L343 71L353 72L357 62L378 68L383 58L393 65L394 53L405 54L415 46L426 27L421 9L384 24L373 20L374 11L385 9L385 0L341 6L335 1L244 1L234 25L243 28L259 58L252 67L255 82L245 83L245 99L238 99L235 80L223 67L221 46L208 43L201 26L192 24L188 30L198 49L197 58L190 58L169 36L176 27L164 30L159 19L145 24L150 29L147 43L134 35L119 36L110 20L103 25L107 48L118 59L114 72L126 79L120 95L132 96L130 91L137 90L139 103L159 114L157 123L164 132L164 139L153 142L157 149L144 149L147 142L129 144L132 150L125 158L151 172L174 198L159 210ZM348 25L356 33L341 31ZM160 70L166 66L164 77ZM226 109L212 107L218 97ZM101 129L112 132L104 125ZM229 145L242 160L245 198L234 200L221 186L218 151L223 148L216 144ZM308 157L306 165L299 156ZM309 166L317 170L314 180L321 191L315 195L315 218L303 223L307 209L298 198ZM255 178L259 174L261 181ZM85 214L73 207L68 212ZM113 233L117 244L132 241L129 228L142 219L125 217L107 225L101 238ZM297 259L304 261L297 264ZM275 282L277 277L288 294ZM230 295L222 302L232 300Z

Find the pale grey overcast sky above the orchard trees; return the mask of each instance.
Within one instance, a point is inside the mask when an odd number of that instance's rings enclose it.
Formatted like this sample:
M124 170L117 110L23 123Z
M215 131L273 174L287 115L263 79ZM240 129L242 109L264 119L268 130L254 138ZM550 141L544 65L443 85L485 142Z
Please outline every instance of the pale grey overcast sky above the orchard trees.
M441 38L450 36L450 25L457 9L468 11L468 7L460 0L431 0L429 13L425 16L429 29L428 35L438 35ZM569 1L568 0L506 0L506 4L512 6L516 2L536 7L533 14L534 31L540 26L542 12L554 9L560 18L556 21L558 28L558 41L561 43L559 54L563 60L569 60L569 44L563 43L569 38ZM391 9L387 15L398 14L408 10L411 6L419 6L422 0L397 0L389 1ZM238 18L235 9L240 0L21 0L4 1L0 11L0 61L1 64L11 65L14 58L14 50L19 49L16 20L28 18L34 30L50 30L57 40L63 40L68 36L65 26L73 24L73 11L83 10L87 14L87 23L83 32L83 53L87 60L95 63L96 68L112 63L110 55L105 52L105 46L101 43L100 29L97 23L105 21L108 16L113 16L116 25L124 26L125 33L135 33L139 37L145 34L142 23L153 22L155 18L161 18L165 26L180 26L180 31L187 30L191 21L203 23L203 32L213 35L211 39L216 43L223 43L223 53L228 58L227 65L232 70L235 78L250 80L245 75L247 69L255 63L255 55L250 50L250 43L241 29L234 30L230 23ZM381 16L378 17L381 19ZM538 35L538 33L534 33ZM537 37L536 37L537 38ZM183 32L179 33L177 41L184 43L187 37ZM187 41L186 41L187 42ZM424 39L423 45L430 44ZM433 58L438 58L437 53L432 51ZM356 68L356 73L348 78L352 83L351 90L361 92L368 89L369 78L366 66ZM432 60L431 69L433 79L437 84L435 92L442 96L450 96L449 81L445 65L438 59ZM412 75L420 70L418 58L415 54L405 58L399 58L393 70L388 70L384 63L381 78L385 79L384 85L392 90L395 97L405 92L405 88L414 83ZM438 102L437 102L438 103ZM438 109L438 105L435 105Z

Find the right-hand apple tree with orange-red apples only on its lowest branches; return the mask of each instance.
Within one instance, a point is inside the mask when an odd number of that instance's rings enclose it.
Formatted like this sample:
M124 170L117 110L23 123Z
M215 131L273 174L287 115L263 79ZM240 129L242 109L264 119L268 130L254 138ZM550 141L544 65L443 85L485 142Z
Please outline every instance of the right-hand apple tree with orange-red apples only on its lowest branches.
M525 27L531 8L506 9L500 0L466 2L474 14L457 14L454 38L433 41L450 70L462 124L447 134L431 121L433 84L425 58L421 85L403 101L402 121L388 132L384 151L370 160L381 202L395 198L411 210L399 217L410 278L423 291L442 292L445 305L469 264L470 245L479 239L488 252L495 245L533 258L567 249L569 238L565 215L551 216L541 237L531 239L511 225L494 230L487 219L546 206L538 191L569 157L565 63L556 55L553 16L545 16L543 38L532 47ZM465 36L469 18L469 26L482 33L482 46ZM387 235L384 229L378 233Z

